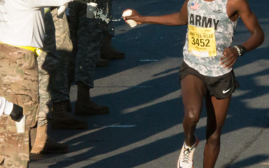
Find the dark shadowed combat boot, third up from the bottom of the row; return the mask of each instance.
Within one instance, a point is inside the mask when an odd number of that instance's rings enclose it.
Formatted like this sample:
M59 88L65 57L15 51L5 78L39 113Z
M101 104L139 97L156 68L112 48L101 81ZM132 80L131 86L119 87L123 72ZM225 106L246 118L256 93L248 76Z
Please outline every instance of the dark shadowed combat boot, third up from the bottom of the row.
M108 114L109 108L107 106L99 106L90 100L90 88L86 85L77 86L77 101L75 107L75 114L77 115L93 115L93 114Z

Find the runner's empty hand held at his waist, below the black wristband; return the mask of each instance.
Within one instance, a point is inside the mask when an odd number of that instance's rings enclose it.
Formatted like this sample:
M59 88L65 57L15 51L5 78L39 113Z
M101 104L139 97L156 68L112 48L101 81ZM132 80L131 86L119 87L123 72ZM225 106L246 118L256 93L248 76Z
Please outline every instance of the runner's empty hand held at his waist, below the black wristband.
M223 57L221 57L221 65L223 65L223 68L230 68L234 66L234 63L236 62L239 54L236 48L229 47L224 49L223 51Z

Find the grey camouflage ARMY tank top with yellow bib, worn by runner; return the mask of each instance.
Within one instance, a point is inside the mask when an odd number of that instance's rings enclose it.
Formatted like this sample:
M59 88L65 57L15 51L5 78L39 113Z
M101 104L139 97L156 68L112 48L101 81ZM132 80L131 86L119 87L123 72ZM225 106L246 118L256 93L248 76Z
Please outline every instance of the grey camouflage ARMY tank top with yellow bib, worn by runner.
M237 21L226 13L228 0L189 0L188 31L183 48L184 61L206 76L221 76L232 70L220 65L223 50L231 47Z

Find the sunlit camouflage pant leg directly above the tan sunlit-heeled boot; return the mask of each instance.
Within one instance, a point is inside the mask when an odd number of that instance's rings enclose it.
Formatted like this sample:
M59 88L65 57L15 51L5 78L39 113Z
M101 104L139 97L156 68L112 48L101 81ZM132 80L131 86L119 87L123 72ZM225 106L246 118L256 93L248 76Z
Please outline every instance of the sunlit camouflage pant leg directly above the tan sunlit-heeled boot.
M42 127L46 124L48 124L48 114L50 112L51 108L51 96L48 91L48 84L49 84L49 73L44 70L43 64L45 62L46 56L48 53L46 51L43 51L40 56L37 58L38 62L38 91L40 95L40 110L38 114L38 127Z

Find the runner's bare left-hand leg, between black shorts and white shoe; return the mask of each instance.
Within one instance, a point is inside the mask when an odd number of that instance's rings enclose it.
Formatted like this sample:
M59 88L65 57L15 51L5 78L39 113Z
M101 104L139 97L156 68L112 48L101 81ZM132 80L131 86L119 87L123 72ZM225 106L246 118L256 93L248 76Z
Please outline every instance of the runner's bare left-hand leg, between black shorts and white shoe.
M203 106L203 98L207 92L205 83L194 75L187 75L181 81L182 100L184 105L184 135L185 143L192 146L195 143L194 132L199 122Z

